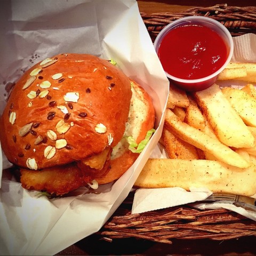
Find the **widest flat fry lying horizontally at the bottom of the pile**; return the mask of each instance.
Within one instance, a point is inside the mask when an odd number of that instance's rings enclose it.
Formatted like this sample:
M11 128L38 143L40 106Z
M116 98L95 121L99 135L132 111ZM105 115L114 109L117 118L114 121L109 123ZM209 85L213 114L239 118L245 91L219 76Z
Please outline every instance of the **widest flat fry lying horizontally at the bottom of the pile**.
M217 193L252 196L256 193L256 171L210 160L148 159L135 186L143 188L207 187Z

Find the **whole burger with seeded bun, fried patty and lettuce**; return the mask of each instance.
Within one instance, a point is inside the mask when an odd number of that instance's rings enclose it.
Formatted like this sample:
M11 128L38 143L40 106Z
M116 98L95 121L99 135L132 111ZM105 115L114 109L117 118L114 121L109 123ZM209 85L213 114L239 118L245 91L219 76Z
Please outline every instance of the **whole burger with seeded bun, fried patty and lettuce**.
M63 195L121 177L154 122L148 93L111 61L59 54L15 84L0 119L0 140L23 188Z

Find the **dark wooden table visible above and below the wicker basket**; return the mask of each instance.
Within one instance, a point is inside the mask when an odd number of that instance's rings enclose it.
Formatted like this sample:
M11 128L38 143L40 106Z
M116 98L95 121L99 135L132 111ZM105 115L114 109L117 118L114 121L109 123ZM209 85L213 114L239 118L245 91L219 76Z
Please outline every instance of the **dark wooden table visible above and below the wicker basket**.
M255 6L255 0L139 0L140 12L180 12L192 7L213 6L226 3L230 6ZM106 242L98 235L91 235L69 246L57 255L256 255L256 238L242 237L229 241L211 241L209 239L183 240L174 239L173 244L162 244L142 239L116 239Z

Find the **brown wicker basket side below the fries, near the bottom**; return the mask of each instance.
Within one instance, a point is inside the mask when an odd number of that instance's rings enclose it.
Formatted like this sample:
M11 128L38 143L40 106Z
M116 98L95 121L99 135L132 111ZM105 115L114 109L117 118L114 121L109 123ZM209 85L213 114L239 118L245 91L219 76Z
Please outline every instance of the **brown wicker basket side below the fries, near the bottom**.
M256 236L256 222L225 209L197 210L189 205L131 214L122 204L98 234L106 241L134 237L172 244L172 239L227 240Z

